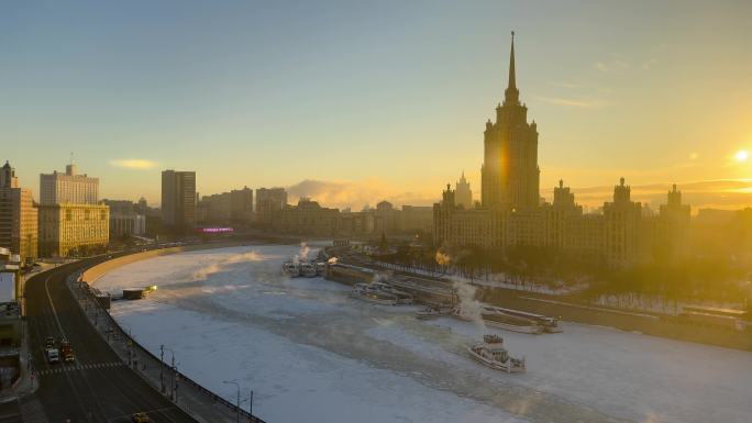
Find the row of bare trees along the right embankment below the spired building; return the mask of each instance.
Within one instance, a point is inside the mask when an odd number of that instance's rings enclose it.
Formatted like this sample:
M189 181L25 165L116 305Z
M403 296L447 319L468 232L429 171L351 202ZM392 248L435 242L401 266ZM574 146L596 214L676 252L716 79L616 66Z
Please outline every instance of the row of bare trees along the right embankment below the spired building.
M381 259L433 272L451 267L468 278L504 272L510 280L522 283L586 281L590 288L582 296L587 300L601 294L634 293L674 302L752 303L752 269L719 256L654 260L629 269L610 269L602 261L546 247L517 247L502 255L480 247L435 249L402 243L391 252Z

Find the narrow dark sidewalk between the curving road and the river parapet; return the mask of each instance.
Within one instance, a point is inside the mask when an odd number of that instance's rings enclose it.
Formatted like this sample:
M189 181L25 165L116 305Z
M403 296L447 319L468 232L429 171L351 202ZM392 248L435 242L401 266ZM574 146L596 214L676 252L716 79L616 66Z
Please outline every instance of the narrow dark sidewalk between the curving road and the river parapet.
M167 364L134 342L110 313L95 303L84 285L68 280L68 288L74 293L97 332L107 339L120 359L130 366L157 391L162 392L180 409L201 423L233 423L237 421L237 409L232 403L197 382L177 372ZM264 423L252 418L247 411L241 410L241 422Z

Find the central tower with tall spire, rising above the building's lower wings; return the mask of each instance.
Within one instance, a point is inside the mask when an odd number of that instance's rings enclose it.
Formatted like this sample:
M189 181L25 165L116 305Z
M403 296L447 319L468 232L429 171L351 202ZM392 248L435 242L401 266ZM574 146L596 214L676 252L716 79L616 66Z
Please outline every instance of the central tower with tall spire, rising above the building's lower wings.
M483 207L529 210L539 204L538 127L534 121L528 123L528 108L520 103L513 32L509 55L509 84L504 104L496 108L496 122L486 122L480 174Z

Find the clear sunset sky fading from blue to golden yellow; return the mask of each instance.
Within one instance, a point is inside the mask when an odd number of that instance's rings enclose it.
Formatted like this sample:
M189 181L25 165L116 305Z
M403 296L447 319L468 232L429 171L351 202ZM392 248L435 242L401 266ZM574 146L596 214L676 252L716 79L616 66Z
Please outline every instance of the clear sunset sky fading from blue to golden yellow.
M151 203L168 168L354 209L464 170L478 197L511 31L543 196L598 204L623 176L752 205L750 1L3 2L0 159L37 192L73 152L101 197Z

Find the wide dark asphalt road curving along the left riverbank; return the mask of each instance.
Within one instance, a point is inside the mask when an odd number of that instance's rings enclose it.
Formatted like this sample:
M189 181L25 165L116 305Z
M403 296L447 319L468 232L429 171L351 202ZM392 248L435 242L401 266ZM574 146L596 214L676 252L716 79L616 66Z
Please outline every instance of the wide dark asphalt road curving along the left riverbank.
M30 346L41 375L36 396L47 419L114 423L143 411L154 422L195 422L120 361L65 286L68 275L103 259L65 265L26 282ZM76 363L47 364L43 350L47 336L66 337Z

